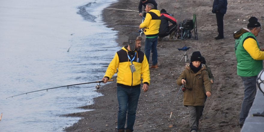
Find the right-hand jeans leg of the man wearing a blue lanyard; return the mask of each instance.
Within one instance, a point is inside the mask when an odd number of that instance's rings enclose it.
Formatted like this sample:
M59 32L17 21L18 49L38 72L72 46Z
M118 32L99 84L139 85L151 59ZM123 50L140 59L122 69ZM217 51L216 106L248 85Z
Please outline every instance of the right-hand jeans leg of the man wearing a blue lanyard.
M139 88L130 88L129 98L128 98L128 120L127 128L133 131L133 126L136 119L137 103L140 96Z

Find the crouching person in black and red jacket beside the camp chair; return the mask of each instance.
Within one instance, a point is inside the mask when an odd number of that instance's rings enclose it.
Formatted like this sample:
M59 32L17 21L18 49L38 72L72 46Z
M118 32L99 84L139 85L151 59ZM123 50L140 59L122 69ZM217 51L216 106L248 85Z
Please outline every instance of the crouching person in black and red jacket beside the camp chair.
M171 22L169 24L169 22ZM169 40L173 40L175 31L177 28L177 21L175 18L170 16L165 9L161 9L161 25L159 28L159 38L158 41L161 41L163 37L170 35Z

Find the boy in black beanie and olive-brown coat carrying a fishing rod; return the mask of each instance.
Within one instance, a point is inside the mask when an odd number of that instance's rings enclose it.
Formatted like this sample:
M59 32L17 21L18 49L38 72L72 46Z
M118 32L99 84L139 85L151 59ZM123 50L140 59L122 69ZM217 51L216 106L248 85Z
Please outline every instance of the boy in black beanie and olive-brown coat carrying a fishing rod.
M182 74L177 79L177 84L185 83L186 91L183 93L183 105L190 112L190 132L198 130L200 112L205 102L205 93L211 96L211 81L204 64L201 64L202 55L199 51L192 53L190 64L185 66ZM205 91L204 91L205 88Z

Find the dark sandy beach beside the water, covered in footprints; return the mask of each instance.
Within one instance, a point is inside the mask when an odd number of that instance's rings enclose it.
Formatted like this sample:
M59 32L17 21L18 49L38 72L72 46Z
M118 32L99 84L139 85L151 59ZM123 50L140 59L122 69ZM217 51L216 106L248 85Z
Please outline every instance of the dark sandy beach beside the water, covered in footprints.
M138 1L132 0L121 0L111 4L108 8L127 9L124 3L133 5L129 7L137 10ZM159 10L166 7L164 9L167 12L173 13L174 0L157 1L157 3ZM229 0L227 13L224 16L225 38L215 41L217 25L215 14L211 13L212 3L213 1L210 0L186 0L176 3L177 10L174 17L177 21L186 18L192 19L192 14L196 13L199 40L188 39L187 41L170 42L168 37L165 37L164 41L158 42L158 65L160 68L150 69L151 83L149 91L141 91L134 125L135 132L189 131L189 114L187 108L182 104L182 92L179 94L178 99L175 99L180 88L176 85L176 79L183 71L185 64L187 64L184 60L179 62L182 58L182 52L178 51L177 48L183 46L191 47L187 52L189 56L193 51L200 51L202 56L206 58L206 64L211 68L215 78L212 86L212 96L205 102L199 132L238 132L241 130L238 119L244 97L244 87L241 78L236 74L235 40L232 38L232 34L234 31L245 27L250 16L256 16L263 25L264 16L260 14L262 14L261 9L264 9L264 6L258 4L257 0ZM259 10L251 10L249 4L256 6ZM104 9L102 15L104 22L110 25L138 26L141 23L137 12ZM177 16L180 16L180 18L177 18ZM113 28L113 26L108 27ZM137 32L138 29L115 26L113 30L118 31L116 42L121 49L122 46L127 44L128 35L131 32ZM260 47L263 47L263 35L264 33L260 32L257 37ZM141 47L141 50L143 49L144 42ZM79 107L92 109L93 111L65 115L81 117L82 119L65 128L64 131L117 131L116 79L114 79L114 82L104 85L98 92L102 93L103 96L94 98L94 104ZM170 118L171 112L173 114Z

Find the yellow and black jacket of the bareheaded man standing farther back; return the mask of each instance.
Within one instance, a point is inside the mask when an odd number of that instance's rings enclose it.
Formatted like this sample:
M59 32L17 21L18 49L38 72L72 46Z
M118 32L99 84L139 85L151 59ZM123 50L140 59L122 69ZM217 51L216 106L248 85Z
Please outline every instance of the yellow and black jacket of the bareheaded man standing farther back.
M144 34L146 37L157 36L161 24L161 13L159 10L151 9L146 14L146 18L143 23L140 24L140 28L145 28Z

